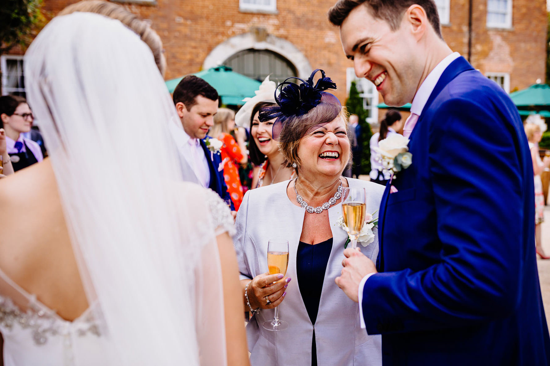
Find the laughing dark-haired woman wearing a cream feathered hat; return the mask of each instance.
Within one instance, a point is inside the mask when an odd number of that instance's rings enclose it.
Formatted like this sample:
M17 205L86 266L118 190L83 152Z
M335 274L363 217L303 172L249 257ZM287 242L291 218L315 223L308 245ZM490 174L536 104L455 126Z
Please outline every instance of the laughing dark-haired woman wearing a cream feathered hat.
M238 126L250 128L249 140L250 160L255 165L252 177L252 189L273 183L288 181L296 177L296 172L288 165L281 151L279 143L272 138L272 121L260 122L259 111L266 106L274 106L276 84L267 76L245 105L237 112L235 122Z

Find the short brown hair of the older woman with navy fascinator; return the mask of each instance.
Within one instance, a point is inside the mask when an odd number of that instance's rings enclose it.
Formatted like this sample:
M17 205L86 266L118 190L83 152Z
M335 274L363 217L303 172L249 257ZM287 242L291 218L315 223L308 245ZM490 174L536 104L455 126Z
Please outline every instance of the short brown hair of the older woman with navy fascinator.
M316 110L317 109L317 110ZM300 138L296 139L295 137L289 138L290 136L285 136L285 132L287 134L293 133L293 128L288 128L285 126L281 132L281 136L279 137L279 150L281 150L281 154L283 154L284 158L287 160L287 167L291 167L293 163L296 164L296 167L294 170L296 171L296 174L298 174L298 169L301 166L300 157L298 156L298 147L300 146L300 140L302 137L306 136L308 132L311 131L311 129L317 125L320 125L322 123L328 123L331 121L326 121L326 119L323 119L323 116L326 114L324 113L324 110L322 108L315 107L311 109L309 112L307 112L305 115L300 116L300 122L293 124L294 126L300 126ZM298 117L298 118L300 118ZM345 108L345 106L340 109L338 112L338 116L336 118L341 118L345 122L346 131L348 129L348 110Z

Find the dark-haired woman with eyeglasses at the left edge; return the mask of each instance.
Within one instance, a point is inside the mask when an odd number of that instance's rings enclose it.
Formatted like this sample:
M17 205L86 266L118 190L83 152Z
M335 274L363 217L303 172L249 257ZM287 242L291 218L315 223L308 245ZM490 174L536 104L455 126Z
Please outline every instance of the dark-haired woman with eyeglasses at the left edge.
M0 97L0 128L5 131L5 143L14 171L21 170L43 160L40 145L23 137L32 127L32 111L23 97L4 95Z

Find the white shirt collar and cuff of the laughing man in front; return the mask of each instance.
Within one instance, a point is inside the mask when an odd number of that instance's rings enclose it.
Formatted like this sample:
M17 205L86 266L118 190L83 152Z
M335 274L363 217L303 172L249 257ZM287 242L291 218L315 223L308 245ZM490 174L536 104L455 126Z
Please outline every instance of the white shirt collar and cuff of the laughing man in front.
M445 71L445 69L447 69L447 67L459 57L460 53L453 52L452 54L441 60L439 64L437 64L437 66L433 68L430 74L426 76L426 78L420 85L420 88L418 88L418 91L416 91L414 98L412 99L411 113L420 116L422 110L424 109L424 106L426 105L426 102L428 102L428 98L430 98L433 89L436 87L439 78L441 78L441 75L443 75L443 71ZM365 282L367 281L367 279L375 274L376 273L374 272L368 273L359 283L359 292L357 294L357 297L359 298L359 318L361 320L361 328L366 328L365 318L363 317L363 307L361 306L361 302L363 300L363 288L365 287Z

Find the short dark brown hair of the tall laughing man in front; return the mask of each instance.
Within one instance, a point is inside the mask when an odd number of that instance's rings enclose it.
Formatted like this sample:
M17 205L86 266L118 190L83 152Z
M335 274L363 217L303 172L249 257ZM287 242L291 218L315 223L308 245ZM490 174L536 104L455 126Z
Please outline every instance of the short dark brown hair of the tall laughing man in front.
M351 10L361 4L370 10L373 18L385 20L392 31L399 29L406 9L414 4L420 5L439 38L443 39L437 5L433 0L339 0L328 10L328 20L334 25L341 26Z

